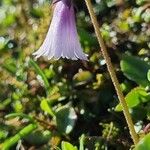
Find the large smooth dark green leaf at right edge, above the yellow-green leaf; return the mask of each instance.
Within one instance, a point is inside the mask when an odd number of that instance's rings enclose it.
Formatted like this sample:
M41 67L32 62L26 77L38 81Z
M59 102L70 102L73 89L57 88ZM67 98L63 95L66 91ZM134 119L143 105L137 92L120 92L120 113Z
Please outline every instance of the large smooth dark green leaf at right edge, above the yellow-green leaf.
M150 65L147 62L138 57L124 55L120 66L128 79L135 81L143 87L150 85L147 79L147 72L150 69Z

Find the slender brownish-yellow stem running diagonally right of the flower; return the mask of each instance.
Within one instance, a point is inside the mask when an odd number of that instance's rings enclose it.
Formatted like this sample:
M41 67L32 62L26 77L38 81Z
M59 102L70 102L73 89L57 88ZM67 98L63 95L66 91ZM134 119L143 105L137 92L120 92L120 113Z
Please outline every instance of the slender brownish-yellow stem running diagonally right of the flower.
M112 82L114 84L116 93L118 95L118 99L119 99L119 101L120 101L120 103L121 103L121 105L123 107L123 113L124 113L125 119L127 121L129 130L130 130L131 138L133 139L134 144L137 144L138 141L139 141L139 137L138 137L138 135L137 135L137 133L136 133L136 131L134 129L134 124L133 124L131 115L129 113L127 103L125 101L125 98L124 98L124 95L122 93L119 81L117 79L114 67L112 65L111 59L110 59L109 54L107 52L107 48L106 48L104 40L102 38L100 29L99 29L99 24L98 24L97 18L95 16L95 13L93 11L91 0L85 0L85 2L86 2L86 5L87 5L87 8L88 8L88 11L89 11L89 14L90 14L90 17L91 17L94 29L95 29L95 33L96 33L99 45L101 46L101 51L102 51L103 57L104 57L104 59L106 61L107 68L108 68L108 71L110 73L110 77L111 77Z

